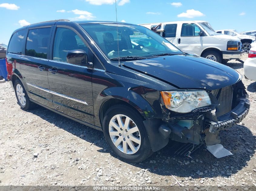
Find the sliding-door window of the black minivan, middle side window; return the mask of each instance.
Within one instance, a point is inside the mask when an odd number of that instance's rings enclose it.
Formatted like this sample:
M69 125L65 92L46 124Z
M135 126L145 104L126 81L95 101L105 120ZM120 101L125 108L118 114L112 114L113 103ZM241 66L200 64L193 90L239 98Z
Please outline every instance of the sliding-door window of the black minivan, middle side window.
M46 59L49 51L50 37L51 28L29 30L25 55Z

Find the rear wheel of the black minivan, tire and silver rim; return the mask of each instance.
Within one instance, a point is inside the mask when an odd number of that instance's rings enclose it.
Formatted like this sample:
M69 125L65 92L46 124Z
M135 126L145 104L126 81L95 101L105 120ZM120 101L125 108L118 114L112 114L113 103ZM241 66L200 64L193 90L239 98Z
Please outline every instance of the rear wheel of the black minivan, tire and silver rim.
M29 100L28 94L20 80L15 81L14 90L18 104L22 109L30 110L35 106L35 104Z

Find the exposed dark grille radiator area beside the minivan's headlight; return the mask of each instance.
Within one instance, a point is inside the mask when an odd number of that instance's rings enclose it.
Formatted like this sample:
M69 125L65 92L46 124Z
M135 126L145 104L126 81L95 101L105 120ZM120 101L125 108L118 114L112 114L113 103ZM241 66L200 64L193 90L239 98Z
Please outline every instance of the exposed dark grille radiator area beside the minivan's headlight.
M221 91L219 93L219 91ZM233 87L228 86L225 88L217 89L211 91L214 97L219 102L219 105L216 107L215 115L217 117L224 115L225 113L228 113L232 109L232 98L233 98ZM219 94L219 95L218 95Z

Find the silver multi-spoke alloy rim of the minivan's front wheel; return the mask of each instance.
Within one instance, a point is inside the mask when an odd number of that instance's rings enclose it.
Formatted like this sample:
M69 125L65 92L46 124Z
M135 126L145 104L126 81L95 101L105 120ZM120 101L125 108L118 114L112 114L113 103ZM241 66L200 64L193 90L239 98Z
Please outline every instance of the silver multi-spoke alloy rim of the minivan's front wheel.
M111 118L109 135L115 147L125 154L136 153L141 145L141 135L134 121L126 115L118 114Z

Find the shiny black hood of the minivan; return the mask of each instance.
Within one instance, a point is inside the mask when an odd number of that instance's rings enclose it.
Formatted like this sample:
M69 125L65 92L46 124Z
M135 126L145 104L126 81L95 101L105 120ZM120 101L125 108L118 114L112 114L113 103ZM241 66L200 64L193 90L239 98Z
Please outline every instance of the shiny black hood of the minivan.
M241 75L232 68L197 56L161 56L126 61L123 65L180 89L215 90L241 80Z

